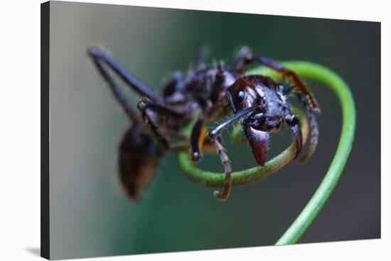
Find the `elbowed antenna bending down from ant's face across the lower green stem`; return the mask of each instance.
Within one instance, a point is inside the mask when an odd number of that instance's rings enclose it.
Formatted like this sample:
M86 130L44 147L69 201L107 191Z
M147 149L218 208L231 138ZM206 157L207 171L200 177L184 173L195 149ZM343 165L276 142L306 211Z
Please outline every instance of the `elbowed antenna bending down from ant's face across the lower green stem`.
M223 193L220 191L215 191L213 194L219 201L225 201L227 200L228 196L230 196L231 192L231 173L232 168L230 164L230 159L228 159L227 153L225 152L225 149L223 145L220 142L220 133L223 131L223 129L230 126L232 123L237 121L238 119L245 117L247 114L255 110L256 107L250 107L245 110L242 110L241 112L237 112L237 114L230 117L230 119L227 119L222 124L218 125L218 127L215 127L211 132L209 132L210 141L215 145L215 149L218 153L218 156L220 156L221 163L224 166L224 172L225 172L225 181L224 181L224 191Z

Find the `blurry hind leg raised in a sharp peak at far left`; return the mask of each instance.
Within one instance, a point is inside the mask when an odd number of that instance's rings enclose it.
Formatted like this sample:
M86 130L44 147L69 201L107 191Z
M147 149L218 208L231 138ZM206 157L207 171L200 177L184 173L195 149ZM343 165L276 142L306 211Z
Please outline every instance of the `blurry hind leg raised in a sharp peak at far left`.
M112 82L112 80L110 80L109 74L107 73L105 68L103 68L102 63L105 63L109 66L109 68L114 70L114 72L117 73L117 75L119 75L119 77L122 78L122 80L124 80L124 82L126 82L127 85L129 85L129 87L131 87L139 95L148 97L150 100L156 103L163 104L163 98L157 96L148 86L138 80L132 73L126 70L116 60L107 55L107 53L98 48L93 47L89 48L87 50L87 53L91 56L95 65L97 65L98 70L107 82ZM112 85L110 85L110 87L112 87L113 92L119 93L119 89L117 87L113 88Z

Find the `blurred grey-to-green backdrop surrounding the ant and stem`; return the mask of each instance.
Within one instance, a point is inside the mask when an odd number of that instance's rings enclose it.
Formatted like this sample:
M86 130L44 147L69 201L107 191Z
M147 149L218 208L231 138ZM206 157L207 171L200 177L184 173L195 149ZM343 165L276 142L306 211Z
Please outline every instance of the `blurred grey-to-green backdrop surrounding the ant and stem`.
M225 203L186 179L174 154L161 160L134 205L121 193L117 149L127 117L86 55L101 46L159 92L186 70L200 44L210 60L247 45L277 60L335 70L357 106L353 150L340 182L299 243L380 238L380 23L51 1L50 254L54 259L272 245L316 190L336 151L341 108L309 82L322 109L320 141L304 166L234 188ZM129 92L129 99L138 97ZM217 122L212 122L214 126ZM272 138L269 158L291 141ZM234 170L255 166L247 146L226 139ZM222 171L215 155L200 166Z

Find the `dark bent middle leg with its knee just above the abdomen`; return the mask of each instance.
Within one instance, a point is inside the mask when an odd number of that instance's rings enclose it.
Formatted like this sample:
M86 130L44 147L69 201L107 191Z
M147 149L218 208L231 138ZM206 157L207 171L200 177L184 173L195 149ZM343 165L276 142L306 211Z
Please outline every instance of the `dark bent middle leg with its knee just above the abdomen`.
M162 144L162 146L165 149L181 150L181 149L188 148L187 145L185 145L185 146L172 145L169 142L168 138L164 134L161 134L158 124L156 124L155 120L151 118L151 116L148 114L147 110L151 110L152 112L158 113L158 115L157 115L158 117L164 115L167 117L172 117L174 119L180 119L183 116L183 114L179 114L178 112L174 112L173 110L170 110L170 109L164 107L163 105L159 105L154 102L149 102L146 100L141 100L139 103L137 103L137 107L140 110L144 119L146 119L146 122L149 124L149 127L151 128L151 132L154 134L154 136L156 137L158 142L160 144Z

